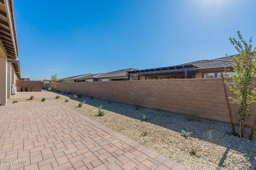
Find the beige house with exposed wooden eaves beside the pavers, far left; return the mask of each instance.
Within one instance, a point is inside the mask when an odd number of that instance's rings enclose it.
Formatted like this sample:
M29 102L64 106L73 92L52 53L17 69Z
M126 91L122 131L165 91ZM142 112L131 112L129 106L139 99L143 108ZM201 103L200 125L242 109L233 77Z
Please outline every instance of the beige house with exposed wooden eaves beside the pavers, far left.
M0 105L7 103L11 87L20 79L13 0L0 1Z

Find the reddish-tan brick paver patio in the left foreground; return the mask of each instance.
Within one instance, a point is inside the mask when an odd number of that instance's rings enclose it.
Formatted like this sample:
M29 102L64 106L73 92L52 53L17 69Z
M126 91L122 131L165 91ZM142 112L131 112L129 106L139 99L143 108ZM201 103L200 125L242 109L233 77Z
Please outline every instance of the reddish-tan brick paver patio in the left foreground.
M28 160L0 169L186 169L54 101L9 104L0 114L0 160Z

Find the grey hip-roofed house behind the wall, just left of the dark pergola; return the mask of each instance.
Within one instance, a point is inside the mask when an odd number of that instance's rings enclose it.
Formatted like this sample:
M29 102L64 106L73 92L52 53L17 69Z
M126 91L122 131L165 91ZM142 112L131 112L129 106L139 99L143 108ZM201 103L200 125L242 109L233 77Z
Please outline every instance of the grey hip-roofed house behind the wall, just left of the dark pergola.
M137 69L130 68L130 69L112 71L109 73L102 73L100 75L97 75L96 78L98 79L98 82L128 80L127 72L134 71L134 70L137 70Z

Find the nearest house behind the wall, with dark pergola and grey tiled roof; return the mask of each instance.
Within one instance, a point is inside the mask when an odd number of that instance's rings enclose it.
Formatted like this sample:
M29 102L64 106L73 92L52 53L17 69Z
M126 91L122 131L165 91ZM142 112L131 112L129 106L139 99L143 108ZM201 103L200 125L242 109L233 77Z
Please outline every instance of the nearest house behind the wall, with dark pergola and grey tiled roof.
M218 78L229 77L233 71L229 57L200 60L170 67L128 71L129 80Z

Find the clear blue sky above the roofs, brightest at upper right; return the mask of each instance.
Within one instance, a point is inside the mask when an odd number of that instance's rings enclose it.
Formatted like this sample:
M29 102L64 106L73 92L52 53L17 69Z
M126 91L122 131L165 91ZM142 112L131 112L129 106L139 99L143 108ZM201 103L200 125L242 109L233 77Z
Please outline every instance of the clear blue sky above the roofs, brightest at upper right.
M256 41L256 1L14 1L21 75L43 79L172 66Z

